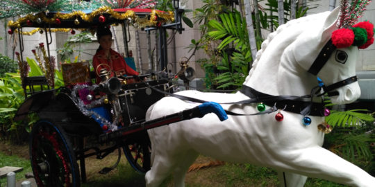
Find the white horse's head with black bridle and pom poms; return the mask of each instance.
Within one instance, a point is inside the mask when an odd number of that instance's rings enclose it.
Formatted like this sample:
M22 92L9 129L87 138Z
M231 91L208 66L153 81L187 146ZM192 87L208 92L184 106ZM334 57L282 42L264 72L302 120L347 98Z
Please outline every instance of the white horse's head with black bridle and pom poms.
M299 39L294 47L297 63L324 82L324 92L335 104L352 103L360 97L356 78L359 48L374 42L374 25L368 21L340 28L340 9L331 12L315 35ZM313 46L303 51L303 46ZM312 63L313 62L313 63Z

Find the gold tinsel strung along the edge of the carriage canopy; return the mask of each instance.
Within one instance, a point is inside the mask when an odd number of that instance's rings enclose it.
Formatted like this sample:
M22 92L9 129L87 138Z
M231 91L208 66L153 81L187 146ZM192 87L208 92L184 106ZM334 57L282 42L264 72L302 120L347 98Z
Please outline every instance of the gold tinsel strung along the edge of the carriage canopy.
M98 16L98 15L102 15L102 14L109 14L111 17L115 18L115 19L119 19L119 20L124 20L124 19L128 19L129 17L133 20L137 20L138 22L138 16L135 15L135 13L133 12L133 10L128 10L124 13L119 13L119 12L115 12L114 10L112 10L110 7L108 6L102 6L101 8L98 8L97 10L93 10L90 14L85 14L85 12L82 12L82 11L76 11L76 12L72 12L72 13L68 13L68 14L61 14L60 12L57 12L56 15L53 16L53 18L47 18L43 12L40 12L39 14L37 15L26 15L25 17L21 17L19 18L17 21L9 21L8 22L8 26L10 28L21 28L21 24L24 24L26 23L27 20L31 20L31 21L35 21L36 19L40 18L42 19L42 21L44 21L45 23L47 24L54 24L55 23L55 20L58 18L60 20L63 20L63 19L74 19L76 17L81 17L81 19L83 19L83 21L86 21L86 22L92 22L92 19L94 19L94 17ZM161 17L165 20L163 21L160 21L160 22L166 22L166 21L174 21L174 12L172 11L169 11L168 13L163 13L163 12L158 12L157 10L153 10L151 12L151 20L147 20L147 21L143 21L142 20L142 23L137 23L139 26L154 26L156 25L157 21L155 21L154 19L154 16L155 15L158 15L158 17ZM35 30L33 30L35 31ZM37 32L37 31L35 31ZM56 31L58 32L58 31ZM65 31L63 31L65 32ZM35 33L31 33L31 32L26 32L26 34L24 34L24 32L22 32L23 35L33 35Z

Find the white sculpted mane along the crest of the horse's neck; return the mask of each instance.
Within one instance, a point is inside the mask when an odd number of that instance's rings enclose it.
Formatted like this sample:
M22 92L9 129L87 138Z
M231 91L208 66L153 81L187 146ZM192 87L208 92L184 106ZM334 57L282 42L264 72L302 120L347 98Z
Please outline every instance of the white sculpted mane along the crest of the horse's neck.
M260 57L262 57L263 51L265 51L267 49L267 46L272 42L272 39L274 39L276 37L276 35L278 35L283 30L285 30L285 28L288 28L290 26L295 26L295 25L297 25L301 22L326 18L327 16L328 15L326 14L326 12L322 12L322 13L318 13L318 14L314 14L314 15L309 15L309 16L306 16L306 17L301 17L299 19L293 19L291 21L288 21L288 23L286 23L286 24L278 26L277 30L274 31L273 33L270 33L268 35L267 39L265 39L265 41L262 43L262 46L260 47L260 50L256 53L256 60L254 60L253 66L250 69L249 75L247 76L247 78L246 78L246 80L244 81L243 84L247 84L251 75L253 75L253 71L256 70L256 65L258 64L258 61L260 60Z

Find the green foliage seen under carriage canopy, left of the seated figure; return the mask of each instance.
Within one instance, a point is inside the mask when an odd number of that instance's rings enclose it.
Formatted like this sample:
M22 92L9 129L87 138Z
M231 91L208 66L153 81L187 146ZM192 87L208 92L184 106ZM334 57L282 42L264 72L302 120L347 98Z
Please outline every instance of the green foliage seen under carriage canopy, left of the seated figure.
M61 61L70 63L70 57L72 57L74 52L78 51L78 57L76 57L76 60L74 61L77 62L81 56L81 52L83 51L81 49L81 44L85 44L87 46L90 42L92 42L91 37L94 37L94 35L83 31L82 33L69 37L67 40L65 40L63 48L56 48L58 55L61 56ZM74 49L77 44L79 48Z

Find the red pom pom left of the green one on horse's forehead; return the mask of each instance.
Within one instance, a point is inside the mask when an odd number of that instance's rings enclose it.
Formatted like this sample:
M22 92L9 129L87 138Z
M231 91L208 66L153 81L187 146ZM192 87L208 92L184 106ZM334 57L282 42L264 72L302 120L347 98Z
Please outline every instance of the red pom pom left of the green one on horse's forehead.
M341 28L333 31L332 42L333 45L337 46L338 48L347 48L353 44L354 37L353 30L349 28Z

